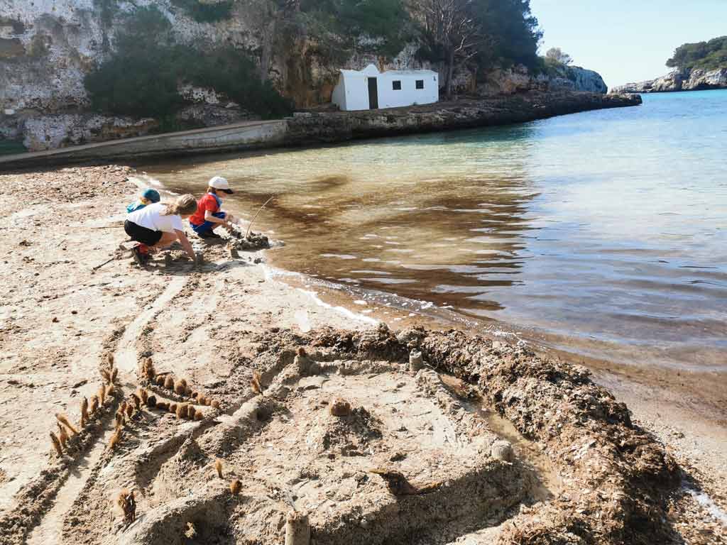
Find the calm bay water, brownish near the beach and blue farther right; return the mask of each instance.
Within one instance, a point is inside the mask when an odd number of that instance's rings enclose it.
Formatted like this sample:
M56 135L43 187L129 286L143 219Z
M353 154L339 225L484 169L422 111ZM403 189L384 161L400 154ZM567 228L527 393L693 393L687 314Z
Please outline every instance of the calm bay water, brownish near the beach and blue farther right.
M275 265L542 331L576 351L727 368L727 91L518 126L213 156ZM565 340L564 340L565 339ZM568 340L570 339L570 340ZM557 344L557 343L556 343Z

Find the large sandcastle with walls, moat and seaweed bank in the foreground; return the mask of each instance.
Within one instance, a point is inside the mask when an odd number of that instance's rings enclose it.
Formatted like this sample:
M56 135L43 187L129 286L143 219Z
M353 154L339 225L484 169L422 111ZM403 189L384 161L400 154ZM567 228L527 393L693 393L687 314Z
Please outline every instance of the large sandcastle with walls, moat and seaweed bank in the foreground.
M113 445L65 514L63 541L545 543L584 528L583 543L667 536L659 517L646 517L648 528L643 520L678 468L624 406L582 368L459 335L276 331L209 392L140 360L133 389L105 390L97 413L116 420ZM557 478L500 437L482 405L537 445ZM121 491L116 504L108 491Z

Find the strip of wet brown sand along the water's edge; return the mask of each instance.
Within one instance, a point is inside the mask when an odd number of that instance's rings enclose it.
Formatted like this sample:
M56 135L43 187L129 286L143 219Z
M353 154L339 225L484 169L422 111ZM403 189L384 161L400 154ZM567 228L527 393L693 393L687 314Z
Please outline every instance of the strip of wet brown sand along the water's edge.
M275 250L268 250L274 252ZM271 259L274 262L274 258ZM579 351L574 338L554 342L545 332L519 327L501 320L485 322L449 310L447 315L407 309L397 304L376 302L369 306L356 304L356 296L329 280L309 278L296 271L281 271L281 281L295 289L316 294L324 304L345 308L350 312L369 310L364 316L387 323L391 328L423 325L427 328L454 328L467 334L510 344L524 342L542 358L563 360L593 371L595 381L607 387L633 411L635 417L669 443L677 440L679 448L700 459L711 472L727 479L727 369L720 371L656 367L609 360L606 355L593 357ZM330 285L329 285L330 284ZM303 286L302 288L300 286ZM398 299L391 294L390 299ZM699 431L695 432L694 427ZM701 452L696 443L706 442L715 448L716 456ZM704 456L707 454L707 456Z

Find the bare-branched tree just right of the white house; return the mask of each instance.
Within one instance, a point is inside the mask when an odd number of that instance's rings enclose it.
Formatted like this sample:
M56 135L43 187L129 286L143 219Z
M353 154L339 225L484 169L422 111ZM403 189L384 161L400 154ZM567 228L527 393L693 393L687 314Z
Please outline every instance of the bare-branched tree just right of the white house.
M452 81L457 63L477 55L485 40L478 20L475 0L424 0L422 13L425 37L433 49L441 49L446 65L445 94L452 96Z

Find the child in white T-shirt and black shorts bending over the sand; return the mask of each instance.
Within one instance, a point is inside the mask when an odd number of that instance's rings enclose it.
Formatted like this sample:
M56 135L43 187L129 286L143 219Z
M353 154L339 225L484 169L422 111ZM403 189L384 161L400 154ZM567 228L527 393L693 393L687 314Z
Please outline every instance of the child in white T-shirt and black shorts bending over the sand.
M133 241L139 243L132 250L134 259L143 265L149 259L150 249L162 249L180 241L187 255L195 260L192 245L184 234L182 219L197 210L193 195L182 195L172 204L155 203L144 206L126 217L124 230Z

